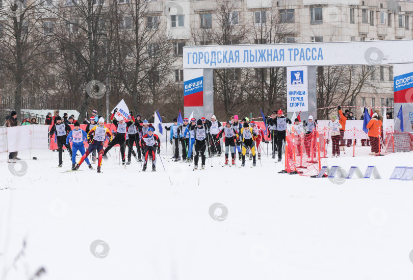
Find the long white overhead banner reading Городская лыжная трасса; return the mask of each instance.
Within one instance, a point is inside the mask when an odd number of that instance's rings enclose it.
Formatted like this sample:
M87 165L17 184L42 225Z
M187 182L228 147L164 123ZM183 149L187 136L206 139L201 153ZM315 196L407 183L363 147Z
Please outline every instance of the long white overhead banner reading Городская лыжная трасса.
M395 52L397 49L397 52ZM184 69L412 63L413 40L185 46Z

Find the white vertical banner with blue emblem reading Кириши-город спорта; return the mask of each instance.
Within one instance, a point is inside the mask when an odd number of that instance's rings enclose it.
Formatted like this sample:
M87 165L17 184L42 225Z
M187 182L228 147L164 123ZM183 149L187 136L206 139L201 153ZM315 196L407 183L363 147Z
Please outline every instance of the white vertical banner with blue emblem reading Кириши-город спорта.
M287 112L308 111L307 67L287 67Z

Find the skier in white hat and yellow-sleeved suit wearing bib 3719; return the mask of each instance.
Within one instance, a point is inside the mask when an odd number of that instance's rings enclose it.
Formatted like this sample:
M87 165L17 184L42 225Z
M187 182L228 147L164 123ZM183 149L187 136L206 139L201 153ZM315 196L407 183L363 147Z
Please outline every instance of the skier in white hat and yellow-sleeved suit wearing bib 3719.
M92 138L93 135L93 138ZM98 161L97 161L97 173L100 173L100 165L102 164L102 155L104 154L103 151L103 144L105 142L105 136L108 136L109 142L112 141L112 133L106 128L104 118L100 117L98 125L93 126L93 128L88 132L88 143L89 147L85 152L85 155L81 158L79 163L72 168L72 170L78 170L83 161L89 156L89 154L97 150L98 153Z

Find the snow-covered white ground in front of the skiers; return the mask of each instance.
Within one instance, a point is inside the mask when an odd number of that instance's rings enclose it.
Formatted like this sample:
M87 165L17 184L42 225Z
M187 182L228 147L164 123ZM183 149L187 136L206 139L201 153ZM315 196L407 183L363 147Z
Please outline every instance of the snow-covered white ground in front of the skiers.
M283 162L264 153L262 167L214 157L193 171L163 159L166 171L158 160L156 172L139 172L112 150L102 174L85 163L61 173L68 154L57 168L49 151L19 152L39 159L22 176L0 163L1 280L413 277L413 182L389 180L413 166L413 152L328 159L376 165L383 177L334 184L278 174Z

